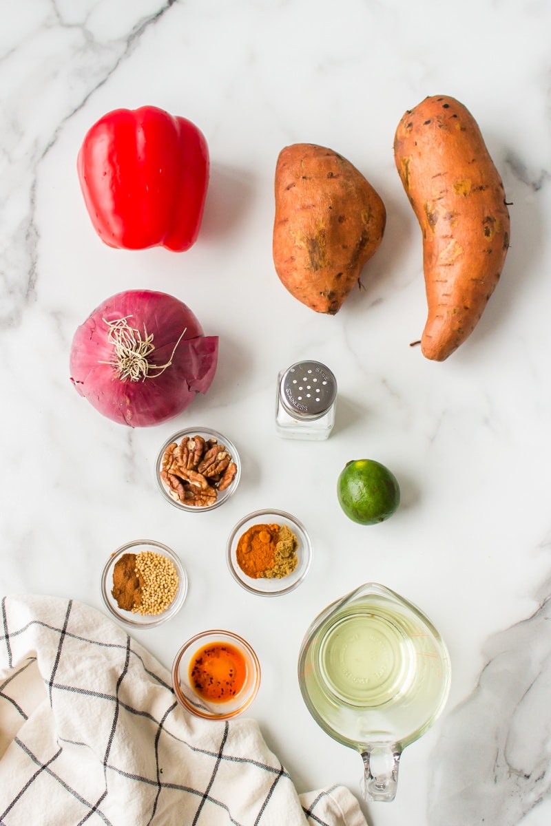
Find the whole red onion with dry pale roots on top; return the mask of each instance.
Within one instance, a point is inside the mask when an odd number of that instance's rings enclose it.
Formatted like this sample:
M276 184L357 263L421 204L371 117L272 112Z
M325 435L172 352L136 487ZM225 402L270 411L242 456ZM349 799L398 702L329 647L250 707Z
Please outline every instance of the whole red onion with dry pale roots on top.
M107 298L78 327L71 381L97 411L131 427L160 425L211 386L218 336L203 335L188 306L164 292Z

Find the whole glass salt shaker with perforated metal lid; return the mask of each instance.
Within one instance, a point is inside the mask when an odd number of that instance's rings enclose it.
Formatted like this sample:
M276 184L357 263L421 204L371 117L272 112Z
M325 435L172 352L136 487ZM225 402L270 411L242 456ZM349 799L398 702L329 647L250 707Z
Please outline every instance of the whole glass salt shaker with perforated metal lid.
M335 424L337 382L316 361L292 364L278 375L276 430L284 439L327 439Z

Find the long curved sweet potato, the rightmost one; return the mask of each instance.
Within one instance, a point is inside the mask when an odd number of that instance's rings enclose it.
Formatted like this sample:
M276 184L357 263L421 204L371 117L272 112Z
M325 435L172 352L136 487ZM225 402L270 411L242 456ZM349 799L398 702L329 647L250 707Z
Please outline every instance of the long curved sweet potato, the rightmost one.
M453 97L426 97L394 139L397 170L423 234L426 358L444 361L470 335L509 248L503 183L477 122Z

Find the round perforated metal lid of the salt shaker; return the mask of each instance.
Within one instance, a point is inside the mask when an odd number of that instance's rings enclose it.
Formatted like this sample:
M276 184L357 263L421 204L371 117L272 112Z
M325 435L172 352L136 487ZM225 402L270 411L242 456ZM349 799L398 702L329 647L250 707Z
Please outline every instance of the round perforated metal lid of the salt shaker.
M325 364L302 361L287 368L279 383L279 398L289 415L299 420L320 419L337 396L337 381Z

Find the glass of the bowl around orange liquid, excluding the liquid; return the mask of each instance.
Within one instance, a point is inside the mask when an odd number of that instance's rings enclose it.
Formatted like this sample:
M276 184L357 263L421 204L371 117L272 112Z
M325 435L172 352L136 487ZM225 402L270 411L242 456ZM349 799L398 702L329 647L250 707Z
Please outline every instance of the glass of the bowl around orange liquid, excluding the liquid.
M205 700L192 688L189 670L193 658L202 648L216 643L225 643L237 648L245 659L245 683L231 700L212 702ZM184 709L209 720L226 720L241 714L254 700L260 686L260 663L253 648L245 639L231 631L213 629L196 634L178 651L172 667L172 685L176 699Z

